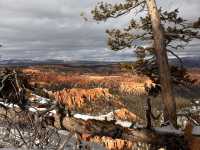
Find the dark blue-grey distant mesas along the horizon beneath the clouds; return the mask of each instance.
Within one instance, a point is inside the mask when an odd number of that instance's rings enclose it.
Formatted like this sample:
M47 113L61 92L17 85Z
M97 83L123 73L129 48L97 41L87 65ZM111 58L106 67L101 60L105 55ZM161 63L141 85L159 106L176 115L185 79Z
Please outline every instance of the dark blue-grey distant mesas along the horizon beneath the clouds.
M1 47L2 45L0 45ZM200 56L190 56L190 57L182 57L183 65L186 68L199 68L200 67ZM89 60L76 60L76 61L64 61L58 59L47 59L47 60L33 60L33 59L1 59L0 65L8 65L8 66L32 66L32 65L58 65L65 64L70 65L71 67L80 67L80 66L107 66L118 64L120 61L89 61ZM123 61L127 63L132 63L131 61ZM179 65L179 61L177 59L170 59L170 63L174 65Z

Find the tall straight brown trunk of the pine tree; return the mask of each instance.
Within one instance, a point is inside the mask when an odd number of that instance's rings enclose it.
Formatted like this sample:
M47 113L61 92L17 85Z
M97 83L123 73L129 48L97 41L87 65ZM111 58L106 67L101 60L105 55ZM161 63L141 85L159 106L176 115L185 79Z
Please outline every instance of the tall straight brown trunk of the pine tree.
M156 53L157 64L160 72L161 94L164 104L164 119L170 121L175 127L177 124L176 118L176 103L173 96L170 69L166 51L164 31L160 21L155 0L146 0L149 16L151 18L154 48Z

